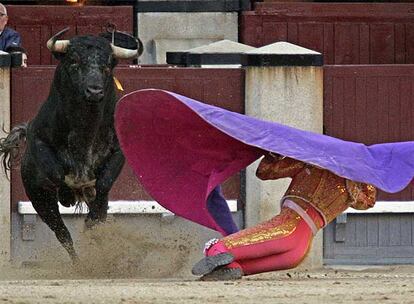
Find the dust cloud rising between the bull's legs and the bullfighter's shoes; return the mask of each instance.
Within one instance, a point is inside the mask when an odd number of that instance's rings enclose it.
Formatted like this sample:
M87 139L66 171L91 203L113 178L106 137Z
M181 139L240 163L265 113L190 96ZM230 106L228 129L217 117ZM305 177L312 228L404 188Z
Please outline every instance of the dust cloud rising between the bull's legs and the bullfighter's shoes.
M86 231L77 272L92 278L177 277L188 263L190 234L151 236L116 222Z

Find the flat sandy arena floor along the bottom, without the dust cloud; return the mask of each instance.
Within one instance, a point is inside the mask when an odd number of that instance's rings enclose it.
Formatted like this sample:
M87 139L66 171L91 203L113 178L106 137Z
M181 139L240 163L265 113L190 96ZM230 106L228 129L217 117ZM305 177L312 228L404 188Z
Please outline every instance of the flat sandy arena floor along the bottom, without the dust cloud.
M414 268L278 272L239 281L50 279L50 269L3 268L0 304L8 303L414 303Z

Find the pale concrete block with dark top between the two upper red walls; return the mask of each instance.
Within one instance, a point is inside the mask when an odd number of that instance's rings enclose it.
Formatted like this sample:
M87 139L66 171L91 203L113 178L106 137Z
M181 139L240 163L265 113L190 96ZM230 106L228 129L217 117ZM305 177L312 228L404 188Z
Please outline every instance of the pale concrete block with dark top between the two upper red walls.
M140 63L164 64L167 51L237 41L238 12L248 7L248 0L137 0L137 34L144 44Z

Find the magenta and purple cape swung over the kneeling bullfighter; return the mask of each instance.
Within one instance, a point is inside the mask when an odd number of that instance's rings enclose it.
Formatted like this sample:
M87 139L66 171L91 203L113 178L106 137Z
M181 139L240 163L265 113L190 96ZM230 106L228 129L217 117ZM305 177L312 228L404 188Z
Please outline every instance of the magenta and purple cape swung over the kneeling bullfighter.
M414 142L365 146L162 90L124 96L115 126L127 161L148 193L175 214L220 232L206 207L209 193L266 151L386 192L402 190L414 175Z

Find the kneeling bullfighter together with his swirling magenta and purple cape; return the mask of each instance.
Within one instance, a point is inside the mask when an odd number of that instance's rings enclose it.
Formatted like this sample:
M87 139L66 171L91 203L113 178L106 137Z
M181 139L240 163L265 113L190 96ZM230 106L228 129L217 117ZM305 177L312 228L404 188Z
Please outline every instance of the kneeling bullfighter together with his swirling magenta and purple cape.
M313 235L346 208L370 208L376 188L395 193L414 176L412 141L366 146L163 90L124 96L115 127L129 165L155 200L226 236L207 244L193 268L206 279L295 267ZM279 215L235 233L217 187L262 156L259 178L292 183Z

